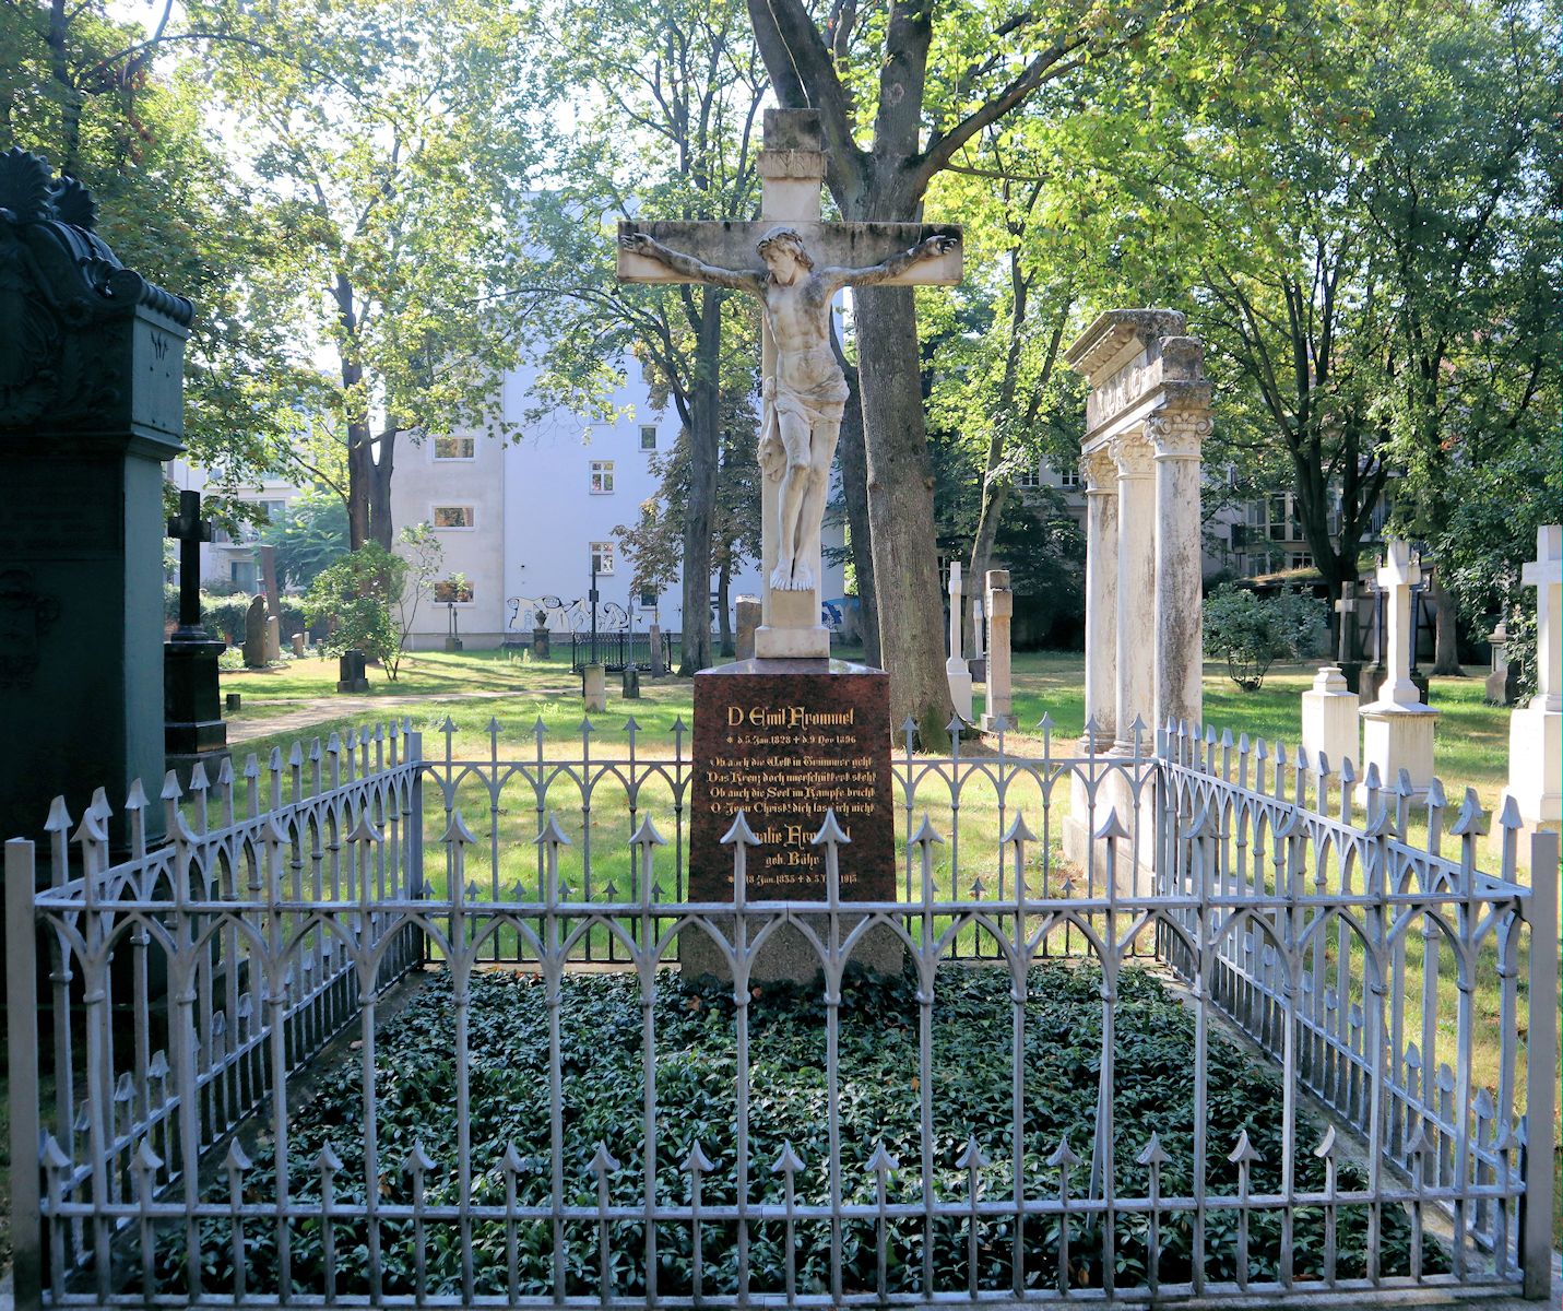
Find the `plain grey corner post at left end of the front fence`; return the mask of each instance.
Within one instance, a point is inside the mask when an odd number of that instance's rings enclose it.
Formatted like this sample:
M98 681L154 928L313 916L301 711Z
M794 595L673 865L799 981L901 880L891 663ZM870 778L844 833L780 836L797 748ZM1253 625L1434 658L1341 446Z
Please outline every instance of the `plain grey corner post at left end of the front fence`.
M33 844L5 844L6 1059L11 1072L11 1278L17 1311L42 1292L38 1192L38 925Z

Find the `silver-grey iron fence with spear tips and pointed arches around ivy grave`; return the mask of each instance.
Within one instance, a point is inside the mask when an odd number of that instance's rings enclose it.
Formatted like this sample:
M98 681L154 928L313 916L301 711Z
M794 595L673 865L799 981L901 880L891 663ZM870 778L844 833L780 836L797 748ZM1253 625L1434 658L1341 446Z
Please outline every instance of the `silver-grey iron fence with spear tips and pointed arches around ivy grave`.
M1469 795L1044 730L908 741L892 902L841 898L832 817L824 900L752 898L739 817L696 903L681 725L444 731L169 784L152 848L139 789L125 852L56 806L42 883L8 844L20 1306L1544 1294L1555 836L1527 888ZM667 969L691 934L730 983ZM816 984L756 986L783 936Z

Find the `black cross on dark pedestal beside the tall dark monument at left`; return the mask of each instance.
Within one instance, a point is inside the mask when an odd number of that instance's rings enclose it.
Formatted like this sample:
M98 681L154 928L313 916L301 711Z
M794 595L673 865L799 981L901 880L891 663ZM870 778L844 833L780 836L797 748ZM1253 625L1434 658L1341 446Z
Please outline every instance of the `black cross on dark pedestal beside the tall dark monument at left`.
M211 523L200 517L200 492L180 492L169 536L180 544L180 627L163 647L163 731L167 767L188 786L197 764L213 778L228 758L228 725L217 705L224 644L200 622L200 544L211 541Z

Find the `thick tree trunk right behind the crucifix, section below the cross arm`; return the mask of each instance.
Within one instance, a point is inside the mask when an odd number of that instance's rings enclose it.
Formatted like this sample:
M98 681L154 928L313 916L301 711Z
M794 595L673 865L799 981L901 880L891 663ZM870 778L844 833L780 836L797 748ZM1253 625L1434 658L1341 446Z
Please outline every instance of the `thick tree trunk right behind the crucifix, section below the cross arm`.
M889 661L891 723L908 716L924 750L949 748L955 714L944 677L944 614L933 538L933 464L917 377L917 317L910 288L857 292L858 378L878 592L880 645Z

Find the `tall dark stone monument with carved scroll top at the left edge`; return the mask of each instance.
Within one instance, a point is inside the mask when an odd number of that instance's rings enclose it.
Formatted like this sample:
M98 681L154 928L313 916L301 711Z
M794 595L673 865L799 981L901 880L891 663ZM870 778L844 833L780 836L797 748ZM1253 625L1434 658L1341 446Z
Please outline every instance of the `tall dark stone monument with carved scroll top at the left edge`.
M116 808L164 772L163 461L183 445L194 306L125 269L95 205L45 159L0 155L0 834L64 795ZM150 836L163 808L144 811Z

